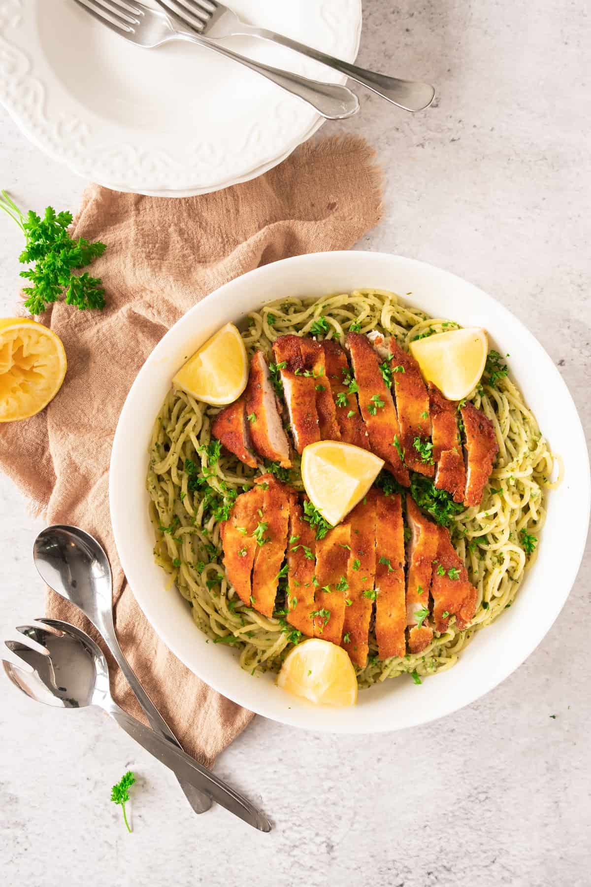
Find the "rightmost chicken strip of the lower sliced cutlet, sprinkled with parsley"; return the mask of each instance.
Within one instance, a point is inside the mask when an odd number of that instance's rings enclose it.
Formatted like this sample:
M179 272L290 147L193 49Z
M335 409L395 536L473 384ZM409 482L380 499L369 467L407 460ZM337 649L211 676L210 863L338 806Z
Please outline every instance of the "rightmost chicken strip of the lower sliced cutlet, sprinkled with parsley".
M437 532L439 541L431 584L435 631L445 632L452 616L455 616L456 627L463 629L476 612L476 588L468 581L468 573L451 543L449 530L438 527Z

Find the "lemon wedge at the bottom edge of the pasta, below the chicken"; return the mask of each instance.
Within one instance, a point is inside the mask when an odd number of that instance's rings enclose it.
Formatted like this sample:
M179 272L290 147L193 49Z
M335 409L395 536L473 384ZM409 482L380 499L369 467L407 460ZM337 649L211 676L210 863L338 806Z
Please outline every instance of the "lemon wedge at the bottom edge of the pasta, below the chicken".
M317 705L357 702L357 678L346 651L328 640L310 638L285 656L277 687Z

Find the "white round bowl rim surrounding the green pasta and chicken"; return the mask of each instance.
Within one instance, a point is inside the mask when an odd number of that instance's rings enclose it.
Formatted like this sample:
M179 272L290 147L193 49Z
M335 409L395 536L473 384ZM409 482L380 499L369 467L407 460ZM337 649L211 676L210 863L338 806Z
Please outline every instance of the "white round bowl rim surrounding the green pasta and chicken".
M356 287L412 293L409 301L434 317L484 326L494 347L509 352L510 370L554 451L564 458L564 483L548 494L539 556L514 605L478 632L450 671L416 687L385 680L362 690L356 707L330 709L287 695L271 675L252 677L235 654L206 643L185 600L167 588L153 561L145 476L152 424L184 356L228 321L287 295L350 292ZM579 569L589 521L589 461L572 397L540 343L491 296L431 265L383 253L300 255L250 271L216 290L181 318L138 374L121 412L109 484L111 518L121 564L136 599L167 646L200 678L268 718L332 733L378 733L440 718L496 687L532 653L556 619Z

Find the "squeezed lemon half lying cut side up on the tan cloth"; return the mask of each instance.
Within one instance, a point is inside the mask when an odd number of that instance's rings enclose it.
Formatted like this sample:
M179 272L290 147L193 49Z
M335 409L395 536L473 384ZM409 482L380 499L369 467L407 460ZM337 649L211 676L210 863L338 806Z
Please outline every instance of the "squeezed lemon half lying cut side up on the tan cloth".
M0 422L41 412L66 375L61 339L30 318L0 318Z

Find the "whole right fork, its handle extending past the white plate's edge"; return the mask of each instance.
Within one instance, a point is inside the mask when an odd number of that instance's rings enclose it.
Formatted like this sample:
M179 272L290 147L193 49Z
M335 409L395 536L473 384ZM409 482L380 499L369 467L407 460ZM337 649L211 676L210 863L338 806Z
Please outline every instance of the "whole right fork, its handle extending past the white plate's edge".
M435 96L435 90L429 83L399 80L396 77L377 74L375 71L368 71L365 68L350 65L341 59L335 59L334 56L306 46L305 43L298 43L297 40L292 40L283 34L276 34L275 31L246 25L244 21L238 19L235 12L219 3L219 0L157 0L157 3L168 12L177 15L185 24L194 28L198 34L206 35L210 40L222 40L223 37L234 35L250 35L261 37L263 40L271 40L273 43L281 43L291 50L309 56L310 59L333 67L341 74L346 74L351 80L361 83L362 86L367 86L378 96L405 111L423 111L424 108L431 105Z

